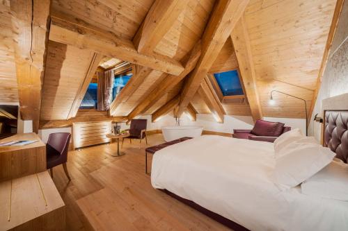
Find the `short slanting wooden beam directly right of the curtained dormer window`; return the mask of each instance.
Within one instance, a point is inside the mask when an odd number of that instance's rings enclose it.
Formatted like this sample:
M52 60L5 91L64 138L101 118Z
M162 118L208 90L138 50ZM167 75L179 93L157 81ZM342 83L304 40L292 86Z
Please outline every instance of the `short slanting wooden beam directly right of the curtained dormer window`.
M133 76L129 79L125 87L122 88L120 94L116 96L116 99L110 105L111 116L116 113L118 105L127 102L130 96L140 87L145 78L152 72L152 69L148 67L142 67L139 65L133 65Z

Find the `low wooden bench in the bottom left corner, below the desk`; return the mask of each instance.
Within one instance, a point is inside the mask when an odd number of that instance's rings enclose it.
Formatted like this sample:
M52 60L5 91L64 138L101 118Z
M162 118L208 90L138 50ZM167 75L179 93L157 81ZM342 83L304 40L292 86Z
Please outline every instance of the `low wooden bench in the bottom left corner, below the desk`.
M0 182L0 231L65 230L65 205L47 171Z

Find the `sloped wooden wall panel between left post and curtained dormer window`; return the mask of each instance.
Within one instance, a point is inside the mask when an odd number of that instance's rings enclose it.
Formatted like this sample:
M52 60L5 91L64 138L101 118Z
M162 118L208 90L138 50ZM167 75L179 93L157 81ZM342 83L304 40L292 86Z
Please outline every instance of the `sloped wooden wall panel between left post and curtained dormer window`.
M40 120L68 119L94 51L49 41Z

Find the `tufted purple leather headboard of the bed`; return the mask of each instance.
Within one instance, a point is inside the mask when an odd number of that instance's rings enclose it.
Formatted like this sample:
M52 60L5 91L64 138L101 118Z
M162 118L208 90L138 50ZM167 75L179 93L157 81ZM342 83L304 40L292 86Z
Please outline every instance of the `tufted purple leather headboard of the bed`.
M348 160L348 110L324 111L324 146L336 153L336 157Z

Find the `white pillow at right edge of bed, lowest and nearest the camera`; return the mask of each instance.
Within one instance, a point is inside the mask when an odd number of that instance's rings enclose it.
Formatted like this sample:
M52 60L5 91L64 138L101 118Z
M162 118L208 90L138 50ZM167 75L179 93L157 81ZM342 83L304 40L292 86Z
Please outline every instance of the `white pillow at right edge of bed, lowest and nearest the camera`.
M331 162L301 184L303 194L336 200L348 200L348 165Z

